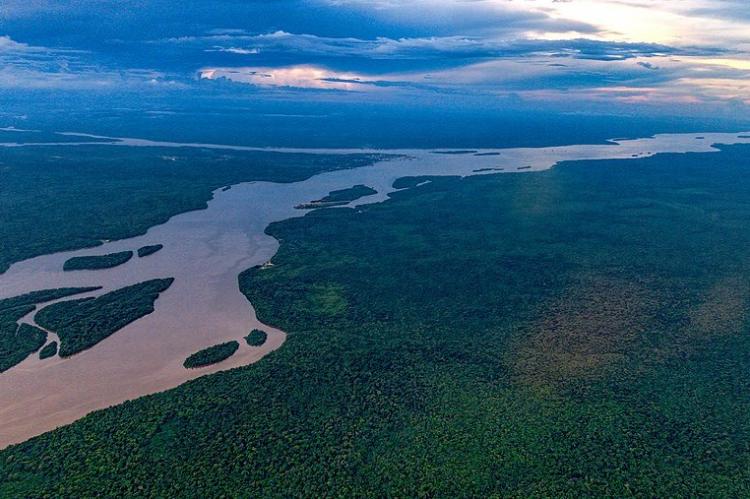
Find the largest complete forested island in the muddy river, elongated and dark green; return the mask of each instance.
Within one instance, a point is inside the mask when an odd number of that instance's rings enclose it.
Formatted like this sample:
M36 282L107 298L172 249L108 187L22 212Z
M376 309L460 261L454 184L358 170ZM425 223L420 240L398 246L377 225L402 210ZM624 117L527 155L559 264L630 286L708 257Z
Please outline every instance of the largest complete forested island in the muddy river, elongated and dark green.
M62 301L40 310L36 323L60 337L60 356L91 348L154 311L159 294L174 279L152 279L96 298Z

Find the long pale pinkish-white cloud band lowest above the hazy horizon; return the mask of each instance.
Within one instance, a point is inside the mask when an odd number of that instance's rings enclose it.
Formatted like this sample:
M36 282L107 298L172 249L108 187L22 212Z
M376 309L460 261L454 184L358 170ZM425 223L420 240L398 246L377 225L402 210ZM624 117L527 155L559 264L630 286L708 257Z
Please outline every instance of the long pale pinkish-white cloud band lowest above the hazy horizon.
M693 103L721 99L750 101L750 70L732 61L706 56L633 56L629 59L571 58L550 63L548 55L494 58L438 71L362 74L322 66L216 67L200 72L202 79L231 81L256 88L290 88L337 92L523 96L527 100L561 102L611 98L613 102ZM721 62L721 63L720 63ZM611 89L608 90L608 89Z

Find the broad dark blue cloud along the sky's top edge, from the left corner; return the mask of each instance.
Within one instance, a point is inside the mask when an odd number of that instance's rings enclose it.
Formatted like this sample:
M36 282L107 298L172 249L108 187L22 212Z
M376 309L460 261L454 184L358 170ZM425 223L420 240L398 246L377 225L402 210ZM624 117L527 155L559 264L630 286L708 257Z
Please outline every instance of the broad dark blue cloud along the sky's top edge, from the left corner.
M40 45L102 46L112 40L201 35L215 30L284 30L327 37L422 37L478 30L576 30L576 21L483 2L333 2L325 0L4 0L3 29ZM443 6L444 5L444 6Z

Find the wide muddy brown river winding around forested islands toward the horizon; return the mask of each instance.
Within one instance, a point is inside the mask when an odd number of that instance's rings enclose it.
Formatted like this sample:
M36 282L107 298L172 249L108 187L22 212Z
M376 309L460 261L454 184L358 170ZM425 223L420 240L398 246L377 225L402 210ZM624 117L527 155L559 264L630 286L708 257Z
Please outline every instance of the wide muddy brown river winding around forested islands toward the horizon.
M86 136L80 137L82 142L60 145L86 144ZM747 133L658 135L615 145L482 149L477 151L479 155L437 154L427 150L274 149L336 154L377 152L403 157L323 173L302 182L251 182L226 191L217 190L207 209L172 217L145 235L107 242L97 248L32 258L0 274L0 298L38 289L104 286L93 293L99 294L148 279L175 278L172 287L157 300L154 313L90 350L66 359L39 360L33 354L0 374L0 448L69 424L93 410L167 390L198 376L248 365L283 348L285 333L257 320L252 306L239 291L237 276L273 257L278 242L264 230L271 222L303 215L304 211L294 209L298 204L356 184L370 186L378 193L349 206L383 201L394 190L393 181L404 176L528 174L551 168L559 161L708 152L715 150L712 144L736 143L750 143L750 137ZM265 150L142 139L112 139L108 144ZM34 147L12 143L0 146ZM164 249L112 269L62 271L63 262L72 256L135 250L148 244L163 244ZM22 319L29 323L33 320L33 314ZM268 332L268 340L261 347L250 347L242 339L253 328ZM230 340L238 340L241 346L229 359L202 369L188 370L182 366L185 358L195 351Z

